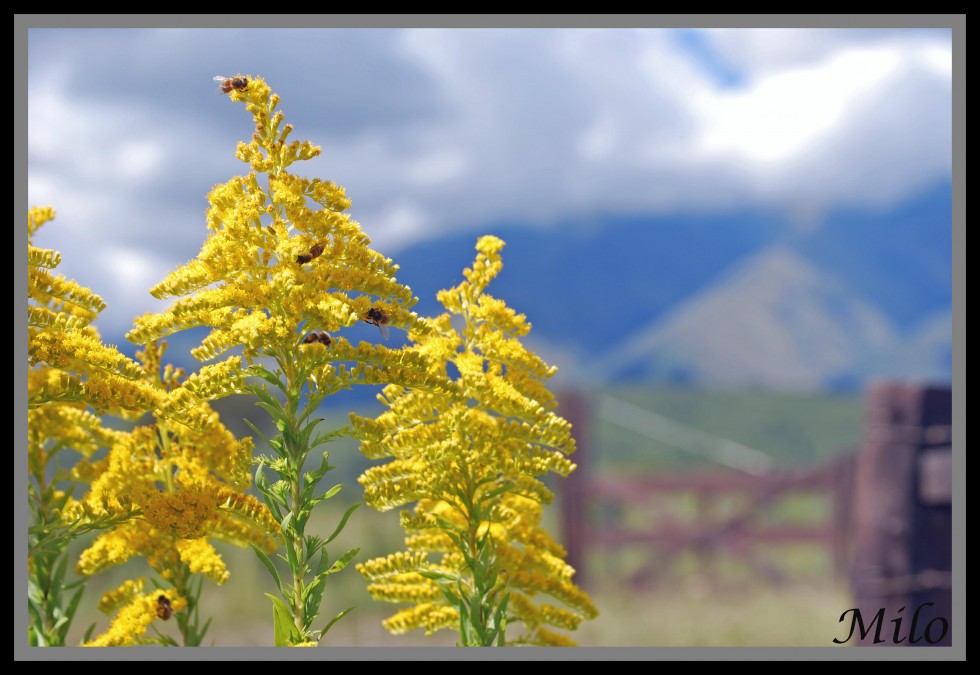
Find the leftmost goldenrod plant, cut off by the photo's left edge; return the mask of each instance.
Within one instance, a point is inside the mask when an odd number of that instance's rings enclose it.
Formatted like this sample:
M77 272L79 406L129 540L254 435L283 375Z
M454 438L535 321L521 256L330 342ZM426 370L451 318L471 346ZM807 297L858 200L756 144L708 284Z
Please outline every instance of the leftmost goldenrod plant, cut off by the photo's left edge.
M62 481L66 477L76 482L94 478L107 463L93 463L88 458L101 448L124 443L126 434L103 426L98 414L133 420L162 398L143 381L139 364L101 341L92 321L105 308L102 299L52 272L62 259L57 251L33 245L37 229L54 215L50 207L35 207L27 217L27 455L32 519L28 598L32 645L64 644L77 606L62 581L68 545L86 532L125 524L136 513L130 503L101 491L89 502L75 501L62 489ZM58 466L54 458L66 449L83 458L67 476L50 470ZM106 554L115 559L125 557L115 550Z

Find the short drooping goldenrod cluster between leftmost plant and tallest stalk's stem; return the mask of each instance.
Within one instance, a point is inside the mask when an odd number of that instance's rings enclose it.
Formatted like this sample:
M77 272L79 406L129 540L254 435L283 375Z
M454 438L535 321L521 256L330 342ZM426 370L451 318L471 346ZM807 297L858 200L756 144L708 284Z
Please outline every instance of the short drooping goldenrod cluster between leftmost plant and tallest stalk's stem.
M163 350L154 343L140 353L147 377L160 390L172 396L200 381L192 377L181 383L179 370L161 370ZM164 579L178 581L187 570L220 584L228 571L209 540L276 549L278 524L244 491L251 482L251 439L236 439L206 403L191 412L207 423L196 428L158 418L156 424L117 434L108 455L86 467L90 489L67 507L68 513L135 509L139 517L100 534L82 552L79 574L145 557Z

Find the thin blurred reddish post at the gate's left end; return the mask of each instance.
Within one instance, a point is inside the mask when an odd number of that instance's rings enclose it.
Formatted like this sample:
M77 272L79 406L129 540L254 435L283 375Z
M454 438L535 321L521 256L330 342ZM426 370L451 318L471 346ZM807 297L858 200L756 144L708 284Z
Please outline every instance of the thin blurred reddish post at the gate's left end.
M586 501L589 482L589 450L591 411L587 396L581 391L566 389L558 396L558 413L572 424L575 452L570 459L576 469L559 485L561 495L562 544L566 561L575 568L575 583L584 587L587 579L585 550L587 527Z

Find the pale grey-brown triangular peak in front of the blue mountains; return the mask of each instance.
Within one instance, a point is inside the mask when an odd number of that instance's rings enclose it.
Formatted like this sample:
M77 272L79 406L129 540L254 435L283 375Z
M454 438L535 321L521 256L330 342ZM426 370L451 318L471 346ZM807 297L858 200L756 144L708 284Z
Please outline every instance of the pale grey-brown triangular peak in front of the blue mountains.
M897 342L888 318L774 245L591 365L613 379L812 389Z

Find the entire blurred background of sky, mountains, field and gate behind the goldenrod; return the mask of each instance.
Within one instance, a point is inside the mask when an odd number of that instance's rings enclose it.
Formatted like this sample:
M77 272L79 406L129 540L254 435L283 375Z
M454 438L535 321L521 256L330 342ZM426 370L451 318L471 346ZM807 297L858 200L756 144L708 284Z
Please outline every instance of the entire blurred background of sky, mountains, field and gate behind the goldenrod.
M294 167L346 188L417 311L478 236L507 242L491 293L559 367L580 445L549 512L602 610L577 639L830 646L869 588L872 614L948 593L909 547L948 525L951 49L948 29L31 28L28 199L58 213L35 244L132 354L133 318L168 304L148 289L205 239L207 192L247 171L250 116L212 78L264 77L292 138L323 147ZM201 337L169 360L196 368ZM375 393L325 414L372 414ZM220 409L242 435L260 419ZM368 463L353 443L332 458L356 500ZM400 546L368 509L345 536L361 559ZM266 572L228 556L212 636L271 644ZM452 644L386 636L394 607L363 585L349 570L325 600L359 605L328 643Z

